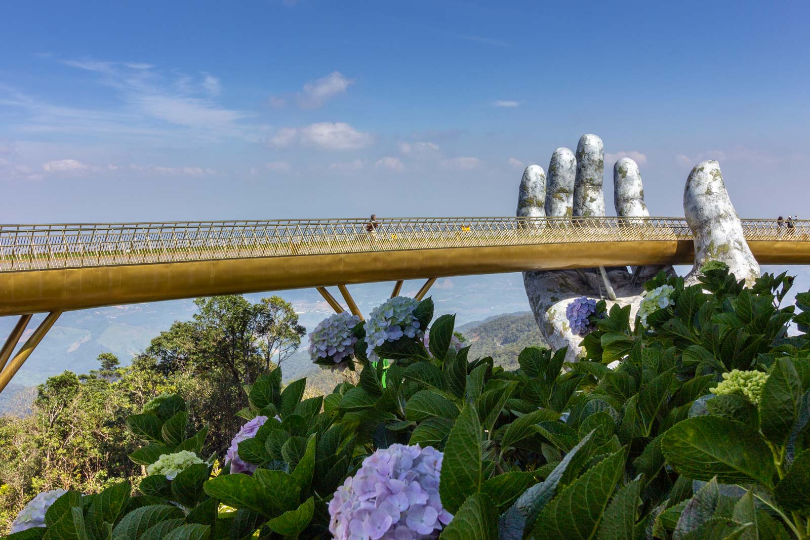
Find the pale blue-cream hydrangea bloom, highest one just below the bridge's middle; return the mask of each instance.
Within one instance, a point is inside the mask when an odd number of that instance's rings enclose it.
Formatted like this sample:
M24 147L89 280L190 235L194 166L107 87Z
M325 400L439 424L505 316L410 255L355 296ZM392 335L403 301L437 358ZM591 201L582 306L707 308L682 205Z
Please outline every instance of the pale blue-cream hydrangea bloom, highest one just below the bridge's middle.
M374 349L385 342L394 342L403 336L419 339L423 337L419 320L413 314L418 305L419 300L394 296L374 308L363 326L365 340L368 342L365 352L369 361L377 362L380 359Z

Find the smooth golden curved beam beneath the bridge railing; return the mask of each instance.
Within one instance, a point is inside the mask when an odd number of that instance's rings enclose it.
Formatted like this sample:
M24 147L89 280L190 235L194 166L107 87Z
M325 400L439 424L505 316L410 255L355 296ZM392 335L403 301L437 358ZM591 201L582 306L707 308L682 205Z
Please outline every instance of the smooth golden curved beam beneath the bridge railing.
M810 242L749 241L761 264L808 264ZM0 274L0 316L403 279L691 264L692 240L602 241L249 257Z

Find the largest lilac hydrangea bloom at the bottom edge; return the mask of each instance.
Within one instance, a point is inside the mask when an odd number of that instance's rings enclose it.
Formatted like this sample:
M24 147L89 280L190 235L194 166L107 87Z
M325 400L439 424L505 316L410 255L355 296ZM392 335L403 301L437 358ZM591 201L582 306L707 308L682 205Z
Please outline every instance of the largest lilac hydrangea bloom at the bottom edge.
M391 444L366 457L329 503L335 540L438 538L453 519L439 498L442 457L419 444Z

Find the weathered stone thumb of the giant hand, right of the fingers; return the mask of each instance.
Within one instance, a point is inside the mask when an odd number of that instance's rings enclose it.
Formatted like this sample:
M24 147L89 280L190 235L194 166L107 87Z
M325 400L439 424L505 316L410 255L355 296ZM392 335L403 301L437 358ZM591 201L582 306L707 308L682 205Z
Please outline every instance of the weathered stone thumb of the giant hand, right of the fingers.
M748 248L720 165L714 159L698 164L689 173L684 189L684 213L695 241L695 265L685 282L697 283L701 266L707 261L723 261L737 279L751 286L760 276L757 259Z

